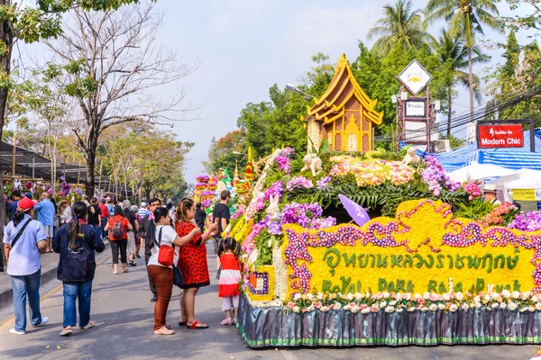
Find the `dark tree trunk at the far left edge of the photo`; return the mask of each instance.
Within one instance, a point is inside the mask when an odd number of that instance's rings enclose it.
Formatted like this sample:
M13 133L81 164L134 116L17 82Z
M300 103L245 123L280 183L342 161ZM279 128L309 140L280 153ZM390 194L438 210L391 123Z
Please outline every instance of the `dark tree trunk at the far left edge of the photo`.
M0 5L11 6L11 0L0 0ZM5 44L5 53L0 55L0 71L4 71L6 76L11 74L11 57L14 49L14 29L13 23L5 21L0 23L0 40ZM4 132L5 123L5 107L7 105L7 94L9 88L6 86L0 87L0 139ZM4 199L4 176L0 172L0 236L4 238L4 225L6 223L5 216L5 199ZM2 251L4 253L4 251ZM3 255L1 255L3 256Z

